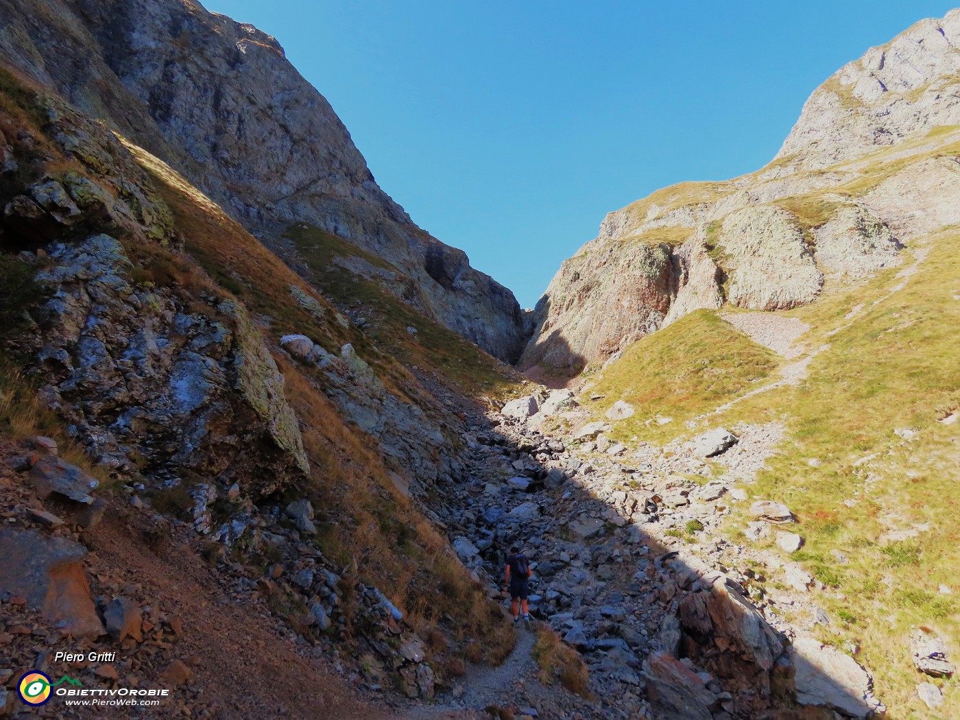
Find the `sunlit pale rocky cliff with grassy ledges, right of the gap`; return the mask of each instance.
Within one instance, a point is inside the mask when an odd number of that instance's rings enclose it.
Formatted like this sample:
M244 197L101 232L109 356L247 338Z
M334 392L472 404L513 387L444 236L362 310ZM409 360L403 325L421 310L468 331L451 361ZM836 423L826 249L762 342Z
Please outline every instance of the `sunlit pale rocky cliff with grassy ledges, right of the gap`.
M817 88L764 169L612 212L538 303L520 367L577 372L693 310L788 309L899 264L955 222L958 48L960 11L917 23Z

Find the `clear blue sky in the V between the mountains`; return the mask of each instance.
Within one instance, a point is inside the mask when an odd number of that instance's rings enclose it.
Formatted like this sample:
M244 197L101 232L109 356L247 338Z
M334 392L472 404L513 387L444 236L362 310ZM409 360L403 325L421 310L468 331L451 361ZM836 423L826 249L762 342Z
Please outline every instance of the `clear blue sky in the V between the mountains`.
M956 0L954 0L956 2ZM604 215L769 161L939 0L204 0L276 36L414 222L532 306Z

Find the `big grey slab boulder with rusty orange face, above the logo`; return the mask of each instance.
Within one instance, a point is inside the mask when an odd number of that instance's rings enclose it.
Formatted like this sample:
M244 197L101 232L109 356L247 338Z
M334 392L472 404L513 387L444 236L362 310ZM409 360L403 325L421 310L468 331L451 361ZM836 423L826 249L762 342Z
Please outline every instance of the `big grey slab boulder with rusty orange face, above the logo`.
M19 595L27 604L76 638L104 635L90 598L83 559L86 549L73 540L34 530L0 530L0 596Z

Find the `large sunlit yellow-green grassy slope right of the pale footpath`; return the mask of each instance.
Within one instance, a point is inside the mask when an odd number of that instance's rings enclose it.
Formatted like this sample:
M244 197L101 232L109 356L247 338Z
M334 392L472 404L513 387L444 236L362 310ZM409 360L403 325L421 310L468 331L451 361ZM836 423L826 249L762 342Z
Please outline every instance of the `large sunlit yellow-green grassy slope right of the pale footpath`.
M911 626L960 636L960 603L939 592L941 585L960 592L960 426L937 421L960 407L958 245L956 230L936 237L918 275L833 335L855 305L894 286L896 274L870 283L869 294L852 289L793 311L813 325L810 345L822 339L828 350L800 387L750 398L731 412L731 420L786 421L789 442L751 492L786 503L800 518L805 544L795 557L828 585L817 601L839 619L839 636L823 639L860 643L880 696L913 713L903 717L928 716L913 695L922 678L910 662ZM917 437L902 440L894 434L900 428ZM819 467L809 465L813 459ZM929 531L914 538L884 537L922 523ZM831 550L850 563L838 564ZM960 647L952 650L956 658ZM942 717L960 716L960 698L947 699Z

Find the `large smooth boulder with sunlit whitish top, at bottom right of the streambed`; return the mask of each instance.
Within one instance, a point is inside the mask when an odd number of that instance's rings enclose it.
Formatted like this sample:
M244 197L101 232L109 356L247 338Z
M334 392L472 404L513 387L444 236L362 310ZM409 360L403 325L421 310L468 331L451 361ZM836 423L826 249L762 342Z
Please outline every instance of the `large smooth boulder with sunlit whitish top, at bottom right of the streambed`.
M794 640L791 663L797 702L826 706L854 718L865 718L883 706L873 693L873 680L856 660L812 637Z

